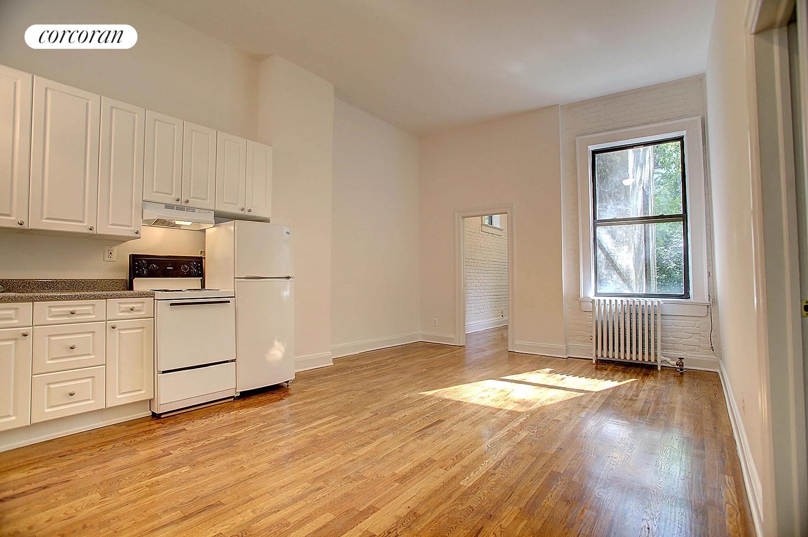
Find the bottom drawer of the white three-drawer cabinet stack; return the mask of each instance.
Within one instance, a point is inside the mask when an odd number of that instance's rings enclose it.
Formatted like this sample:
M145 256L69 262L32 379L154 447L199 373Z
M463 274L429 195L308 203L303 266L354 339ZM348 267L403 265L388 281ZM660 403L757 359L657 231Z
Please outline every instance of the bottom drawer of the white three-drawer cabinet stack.
M32 377L32 423L103 409L103 406L103 366Z

